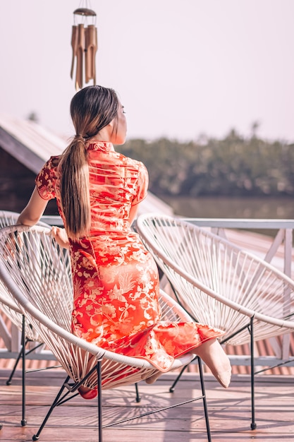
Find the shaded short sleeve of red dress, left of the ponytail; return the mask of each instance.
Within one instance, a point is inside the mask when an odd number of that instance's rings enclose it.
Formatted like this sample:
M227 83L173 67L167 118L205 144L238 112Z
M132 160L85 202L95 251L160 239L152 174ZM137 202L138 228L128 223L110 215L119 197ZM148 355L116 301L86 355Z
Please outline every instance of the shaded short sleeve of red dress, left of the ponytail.
M51 200L56 197L55 183L56 183L56 157L51 157L42 167L35 179L37 191L39 196L44 200Z

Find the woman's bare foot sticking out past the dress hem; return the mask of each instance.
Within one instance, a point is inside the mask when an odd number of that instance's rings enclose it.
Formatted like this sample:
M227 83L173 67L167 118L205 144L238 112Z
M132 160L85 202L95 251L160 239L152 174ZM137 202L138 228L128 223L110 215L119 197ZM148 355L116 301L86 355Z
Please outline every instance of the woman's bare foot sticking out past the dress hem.
M231 364L216 338L203 342L195 349L195 353L208 366L217 381L224 388L228 388L231 382Z

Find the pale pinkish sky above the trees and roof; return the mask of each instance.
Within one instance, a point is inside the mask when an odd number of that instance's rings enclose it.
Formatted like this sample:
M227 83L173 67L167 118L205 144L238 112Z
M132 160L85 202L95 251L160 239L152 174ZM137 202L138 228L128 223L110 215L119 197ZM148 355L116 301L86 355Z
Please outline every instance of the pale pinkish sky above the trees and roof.
M294 0L92 0L97 83L128 138L197 140L232 128L294 142ZM80 0L0 0L0 113L71 136L73 11ZM92 84L92 81L88 83Z

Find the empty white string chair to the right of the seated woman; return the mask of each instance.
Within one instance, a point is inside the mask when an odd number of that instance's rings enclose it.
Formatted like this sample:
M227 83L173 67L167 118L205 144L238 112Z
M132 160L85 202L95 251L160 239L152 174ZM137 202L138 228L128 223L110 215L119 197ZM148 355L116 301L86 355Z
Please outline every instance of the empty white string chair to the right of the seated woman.
M136 230L195 321L224 330L221 342L250 342L251 429L255 429L254 341L294 330L293 280L226 239L177 217L140 215Z

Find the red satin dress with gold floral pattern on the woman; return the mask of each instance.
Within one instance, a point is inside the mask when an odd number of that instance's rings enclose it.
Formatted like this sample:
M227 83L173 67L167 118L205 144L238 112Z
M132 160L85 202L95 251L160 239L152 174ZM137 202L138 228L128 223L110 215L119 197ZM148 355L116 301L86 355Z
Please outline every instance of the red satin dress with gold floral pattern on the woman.
M147 169L116 153L111 143L89 143L87 152L92 224L87 237L70 238L73 333L168 371L174 358L223 332L199 323L161 321L157 265L128 222L130 208L147 194ZM64 222L59 159L49 159L36 185L45 200L56 198Z

